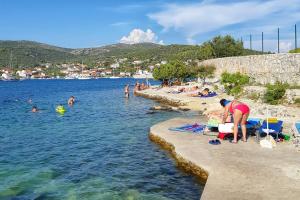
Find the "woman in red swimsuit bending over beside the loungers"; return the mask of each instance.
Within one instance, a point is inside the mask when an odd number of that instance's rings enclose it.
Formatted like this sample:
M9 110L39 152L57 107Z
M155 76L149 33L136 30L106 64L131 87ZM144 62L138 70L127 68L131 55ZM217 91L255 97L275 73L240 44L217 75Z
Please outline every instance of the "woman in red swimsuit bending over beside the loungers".
M221 99L220 104L225 108L225 112L223 115L223 123L228 117L228 113L233 115L234 129L233 129L233 141L232 143L237 143L237 134L238 134L238 126L241 124L242 133L243 133L243 141L247 141L247 129L246 123L250 114L250 108L239 101L233 100L228 101L226 99Z

